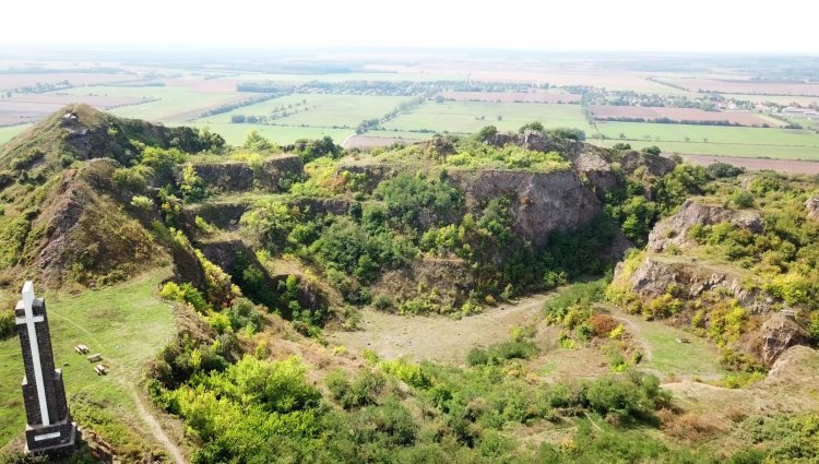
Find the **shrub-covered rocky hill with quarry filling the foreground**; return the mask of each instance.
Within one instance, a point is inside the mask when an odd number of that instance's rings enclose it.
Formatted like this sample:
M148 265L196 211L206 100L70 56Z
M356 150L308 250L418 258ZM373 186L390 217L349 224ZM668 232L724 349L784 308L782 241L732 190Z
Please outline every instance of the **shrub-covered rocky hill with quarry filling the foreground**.
M71 106L0 152L0 290L27 276L91 295L68 316L141 347L117 352L144 367L123 391L198 463L790 459L773 429L808 433L797 451L812 452L815 416L782 419L795 409L775 397L816 406L798 374L816 353L793 346L816 343L816 179L536 129L365 152L251 132L227 147ZM135 318L93 298L132 284L152 321L168 324L158 298L176 308L174 331L133 323L154 344L97 320ZM739 397L764 406L703 413ZM168 441L78 417L128 460Z

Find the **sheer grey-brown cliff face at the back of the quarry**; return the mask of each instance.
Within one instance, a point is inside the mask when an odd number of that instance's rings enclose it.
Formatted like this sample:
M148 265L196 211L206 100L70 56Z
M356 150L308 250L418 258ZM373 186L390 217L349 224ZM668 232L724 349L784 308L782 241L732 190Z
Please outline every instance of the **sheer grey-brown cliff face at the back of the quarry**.
M466 197L467 210L494 198L512 198L513 227L536 246L555 230L573 230L594 218L601 203L573 171L548 174L479 170L450 172L453 185Z

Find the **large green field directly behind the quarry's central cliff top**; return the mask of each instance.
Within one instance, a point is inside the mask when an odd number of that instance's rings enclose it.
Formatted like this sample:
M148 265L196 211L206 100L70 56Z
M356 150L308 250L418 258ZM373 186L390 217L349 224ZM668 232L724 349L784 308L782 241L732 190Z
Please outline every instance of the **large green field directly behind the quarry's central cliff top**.
M426 102L382 126L389 131L474 133L485 126L513 131L532 121L549 128L573 127L592 132L580 105L525 103Z

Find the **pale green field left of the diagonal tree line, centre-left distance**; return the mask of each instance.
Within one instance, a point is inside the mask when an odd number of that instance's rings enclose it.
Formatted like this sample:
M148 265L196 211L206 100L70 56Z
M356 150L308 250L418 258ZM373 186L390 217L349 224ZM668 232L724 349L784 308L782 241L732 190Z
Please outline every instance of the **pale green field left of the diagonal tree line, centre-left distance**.
M277 124L355 129L363 120L380 118L408 99L373 95L293 94L201 118L197 122L230 122L233 115L269 116L276 108L286 107L286 111L293 115L276 119Z

